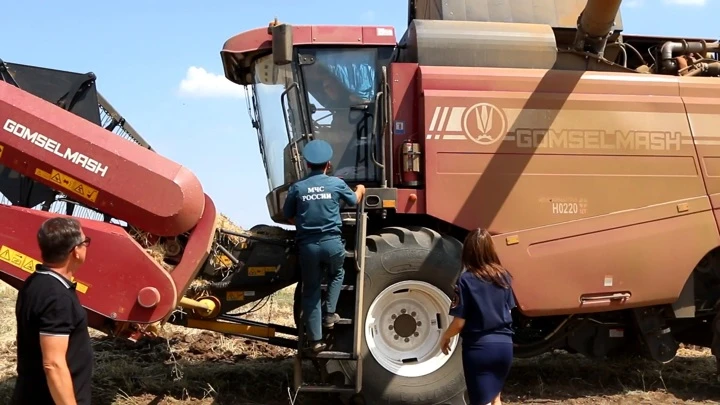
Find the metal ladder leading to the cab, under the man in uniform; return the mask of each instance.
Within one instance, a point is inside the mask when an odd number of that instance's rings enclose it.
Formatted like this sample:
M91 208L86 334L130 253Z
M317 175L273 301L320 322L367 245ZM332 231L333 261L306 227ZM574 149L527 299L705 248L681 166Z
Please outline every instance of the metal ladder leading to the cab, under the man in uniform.
M355 214L355 251L347 252L347 257L352 257L355 262L356 280L355 286L343 285L343 290L354 290L355 291L355 312L353 319L341 319L337 325L349 325L352 324L353 328L353 345L352 352L340 352L340 351L323 351L314 355L305 355L303 353L303 342L304 342L304 322L300 322L298 325L298 351L294 361L294 378L293 378L293 389L298 393L336 393L336 394L358 394L362 390L362 356L360 355L360 342L362 339L363 332L363 291L365 282L365 247L367 236L367 213L365 212L365 199L358 202L358 208ZM325 362L329 360L350 360L356 362L355 369L355 381L354 384L343 384L332 385L332 384L320 384L310 385L303 381L302 376L302 362L303 360L311 360L318 370L323 373L323 366L320 364L320 360Z

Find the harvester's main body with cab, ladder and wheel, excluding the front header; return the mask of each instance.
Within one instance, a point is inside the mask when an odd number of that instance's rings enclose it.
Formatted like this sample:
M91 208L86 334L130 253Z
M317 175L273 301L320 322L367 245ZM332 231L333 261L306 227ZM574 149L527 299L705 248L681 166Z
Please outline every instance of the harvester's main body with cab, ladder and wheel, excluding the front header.
M477 227L514 274L518 357L720 355L718 42L625 35L619 0L583 3L411 0L400 44L392 27L277 20L225 42L273 220L312 139L368 187L344 212L352 327L324 356L346 385L296 374L298 389L463 403L438 339Z

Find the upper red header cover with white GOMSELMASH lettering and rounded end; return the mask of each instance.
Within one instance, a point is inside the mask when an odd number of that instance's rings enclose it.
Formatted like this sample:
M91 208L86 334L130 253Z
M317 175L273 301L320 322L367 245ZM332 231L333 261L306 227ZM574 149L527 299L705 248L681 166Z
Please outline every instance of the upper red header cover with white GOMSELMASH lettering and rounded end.
M195 226L205 203L185 167L4 82L0 163L161 236Z

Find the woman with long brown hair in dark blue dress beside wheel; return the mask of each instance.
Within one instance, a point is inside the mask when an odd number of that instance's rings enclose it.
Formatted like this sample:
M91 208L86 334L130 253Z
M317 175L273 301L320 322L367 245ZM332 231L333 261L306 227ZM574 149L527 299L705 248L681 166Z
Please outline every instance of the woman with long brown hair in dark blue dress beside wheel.
M470 405L500 405L513 359L512 277L500 264L485 229L465 238L462 265L450 308L454 319L443 334L442 350L449 354L450 340L459 333Z

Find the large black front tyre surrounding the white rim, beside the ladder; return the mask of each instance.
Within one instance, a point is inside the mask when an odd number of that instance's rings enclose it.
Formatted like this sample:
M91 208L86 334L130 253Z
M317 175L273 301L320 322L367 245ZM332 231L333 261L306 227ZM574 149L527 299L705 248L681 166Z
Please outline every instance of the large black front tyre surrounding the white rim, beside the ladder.
M462 244L457 239L423 227L390 227L383 229L379 235L369 235L363 314L368 313L373 300L385 288L405 280L429 283L442 290L449 300L461 270L461 251ZM363 320L363 330L364 323ZM443 325L443 329L447 326ZM434 372L419 377L404 377L391 373L378 363L368 349L364 331L362 336L362 393L365 398L371 398L373 404L466 404L459 345L450 359ZM355 363L342 362L339 365L352 381Z

